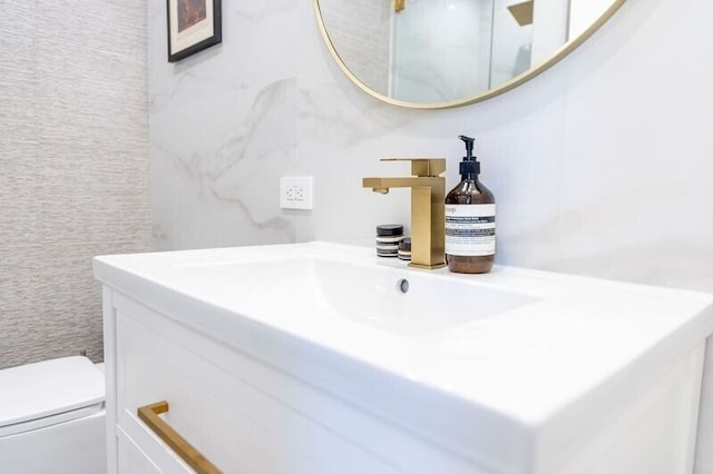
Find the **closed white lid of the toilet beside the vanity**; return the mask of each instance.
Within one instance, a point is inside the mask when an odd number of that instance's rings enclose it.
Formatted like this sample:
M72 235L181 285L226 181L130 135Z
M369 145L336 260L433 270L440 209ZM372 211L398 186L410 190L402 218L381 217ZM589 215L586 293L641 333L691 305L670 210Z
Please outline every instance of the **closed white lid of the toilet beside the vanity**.
M100 408L104 374L87 357L0 371L0 436L86 416Z

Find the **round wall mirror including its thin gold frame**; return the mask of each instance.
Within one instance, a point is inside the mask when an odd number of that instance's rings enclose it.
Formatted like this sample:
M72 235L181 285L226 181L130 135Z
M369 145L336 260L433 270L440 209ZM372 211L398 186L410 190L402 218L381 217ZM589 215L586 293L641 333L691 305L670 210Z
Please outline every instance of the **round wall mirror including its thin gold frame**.
M332 56L389 103L440 109L502 93L594 33L625 0L313 0Z

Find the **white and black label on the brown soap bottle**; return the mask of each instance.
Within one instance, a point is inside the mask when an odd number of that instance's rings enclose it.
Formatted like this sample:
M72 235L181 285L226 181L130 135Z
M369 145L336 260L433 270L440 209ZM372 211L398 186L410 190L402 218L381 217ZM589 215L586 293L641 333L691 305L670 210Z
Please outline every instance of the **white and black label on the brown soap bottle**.
M446 205L446 254L495 255L495 204Z

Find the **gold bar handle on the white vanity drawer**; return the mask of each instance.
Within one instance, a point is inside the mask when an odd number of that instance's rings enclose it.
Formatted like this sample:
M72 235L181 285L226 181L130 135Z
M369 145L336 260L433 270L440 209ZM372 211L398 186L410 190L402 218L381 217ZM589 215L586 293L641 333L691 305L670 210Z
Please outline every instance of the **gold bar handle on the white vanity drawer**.
M180 456L198 474L217 474L221 471L206 457L183 438L168 423L158 417L168 412L168 402L157 402L146 406L139 406L136 411L140 421L146 423L158 437L164 440L176 454Z

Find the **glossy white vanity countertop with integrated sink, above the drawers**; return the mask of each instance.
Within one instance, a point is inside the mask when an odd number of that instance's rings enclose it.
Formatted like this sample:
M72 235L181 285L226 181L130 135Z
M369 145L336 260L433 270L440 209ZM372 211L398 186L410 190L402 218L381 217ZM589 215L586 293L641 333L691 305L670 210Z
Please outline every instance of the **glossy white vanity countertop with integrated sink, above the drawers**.
M419 270L320 241L94 265L104 284L195 330L495 464L534 444L566 450L713 333L707 294L505 266ZM426 292L418 308L407 305ZM401 319L370 320L381 298ZM355 307L363 314L340 314ZM410 325L408 313L426 316Z

